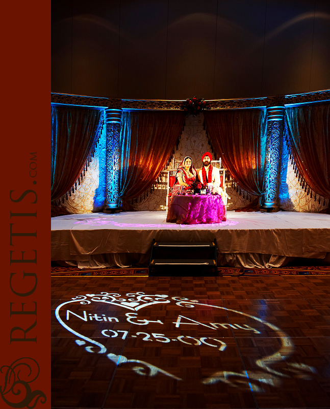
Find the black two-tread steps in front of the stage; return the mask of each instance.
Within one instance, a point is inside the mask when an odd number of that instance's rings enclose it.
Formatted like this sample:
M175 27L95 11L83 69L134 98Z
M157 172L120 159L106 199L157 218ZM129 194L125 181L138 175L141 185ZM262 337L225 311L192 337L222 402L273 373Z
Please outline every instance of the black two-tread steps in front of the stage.
M149 276L217 276L217 242L153 240Z

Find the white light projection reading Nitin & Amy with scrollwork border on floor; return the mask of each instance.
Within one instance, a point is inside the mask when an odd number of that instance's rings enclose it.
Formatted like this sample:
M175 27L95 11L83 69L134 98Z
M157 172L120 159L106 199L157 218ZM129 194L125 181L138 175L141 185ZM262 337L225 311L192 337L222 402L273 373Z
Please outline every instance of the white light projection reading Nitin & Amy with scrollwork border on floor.
M295 345L281 328L260 317L215 304L217 300L204 303L164 294L135 292L121 296L119 293L103 291L73 297L61 303L55 315L61 326L75 336L72 343L75 342L77 347L84 347L87 353L106 354L117 367L129 365L132 371L146 377L146 380L148 377L164 375L185 381L168 368L136 359L139 356L109 353L105 344L109 343L110 338L114 342L120 340L123 345L126 340L136 338L148 344L157 343L160 348L170 345L171 348L210 348L210 357L214 356L214 351L231 356L232 345L227 345L227 339L238 331L243 331L246 334L244 336L252 340L265 336L279 340L278 350L255 357L252 369L237 371L224 359L221 368L200 379L204 385L222 382L231 387L262 393L263 384L280 388L286 379L309 379L316 373L312 366L287 361L294 355ZM129 312L125 312L127 310ZM230 316L230 322L209 322L210 314L216 317L219 311L222 311L222 321L229 321L227 318ZM220 321L220 317L217 320ZM84 331L93 335L86 336ZM207 356L208 352L204 350L202 354Z

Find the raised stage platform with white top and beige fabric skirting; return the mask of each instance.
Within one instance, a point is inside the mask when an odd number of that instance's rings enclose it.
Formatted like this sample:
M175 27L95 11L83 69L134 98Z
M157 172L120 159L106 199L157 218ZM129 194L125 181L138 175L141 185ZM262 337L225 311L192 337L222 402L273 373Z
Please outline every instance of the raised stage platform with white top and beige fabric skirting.
M81 268L147 265L156 241L212 241L218 264L280 267L294 257L330 263L330 216L320 213L227 212L212 224L173 224L165 211L88 213L52 218L52 260Z

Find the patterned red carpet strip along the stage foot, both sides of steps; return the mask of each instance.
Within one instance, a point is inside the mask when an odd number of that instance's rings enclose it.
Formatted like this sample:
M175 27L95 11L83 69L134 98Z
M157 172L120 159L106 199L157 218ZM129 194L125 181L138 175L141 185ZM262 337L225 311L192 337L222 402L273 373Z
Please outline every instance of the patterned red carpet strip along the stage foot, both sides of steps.
M148 276L147 267L130 268L86 268L51 267L50 275L59 276ZM319 276L330 275L330 266L295 266L283 268L238 268L218 267L218 276Z

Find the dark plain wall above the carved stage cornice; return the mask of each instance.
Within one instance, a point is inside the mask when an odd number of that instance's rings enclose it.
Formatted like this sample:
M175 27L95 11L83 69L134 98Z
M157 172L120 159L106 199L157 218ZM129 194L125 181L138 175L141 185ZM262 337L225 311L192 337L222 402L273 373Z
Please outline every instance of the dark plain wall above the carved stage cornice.
M330 88L329 0L53 0L52 92L251 98Z

